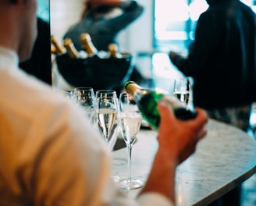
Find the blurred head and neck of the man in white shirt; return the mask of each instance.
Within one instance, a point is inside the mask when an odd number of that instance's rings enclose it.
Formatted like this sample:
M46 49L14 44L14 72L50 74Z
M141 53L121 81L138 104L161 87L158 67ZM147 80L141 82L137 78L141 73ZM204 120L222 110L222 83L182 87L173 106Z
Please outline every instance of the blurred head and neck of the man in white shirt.
M37 37L37 0L0 0L0 44L29 59Z

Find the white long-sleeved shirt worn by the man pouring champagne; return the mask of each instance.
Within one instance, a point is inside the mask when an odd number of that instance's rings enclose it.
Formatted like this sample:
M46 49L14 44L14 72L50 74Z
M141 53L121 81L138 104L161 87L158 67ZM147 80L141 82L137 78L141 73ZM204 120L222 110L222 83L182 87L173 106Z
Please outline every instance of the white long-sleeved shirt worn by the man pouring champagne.
M0 205L171 205L119 190L105 141L80 108L18 62L0 47Z

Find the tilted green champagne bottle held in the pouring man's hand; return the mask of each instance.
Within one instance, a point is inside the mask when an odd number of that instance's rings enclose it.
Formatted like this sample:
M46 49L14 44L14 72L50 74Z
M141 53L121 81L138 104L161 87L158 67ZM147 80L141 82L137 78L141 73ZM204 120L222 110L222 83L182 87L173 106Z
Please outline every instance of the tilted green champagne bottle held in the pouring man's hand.
M160 122L160 115L157 108L158 101L160 100L165 101L171 106L178 119L193 119L197 115L194 111L187 110L178 99L167 96L160 91L144 89L133 81L126 82L124 87L133 96L144 119L155 130L158 130Z

